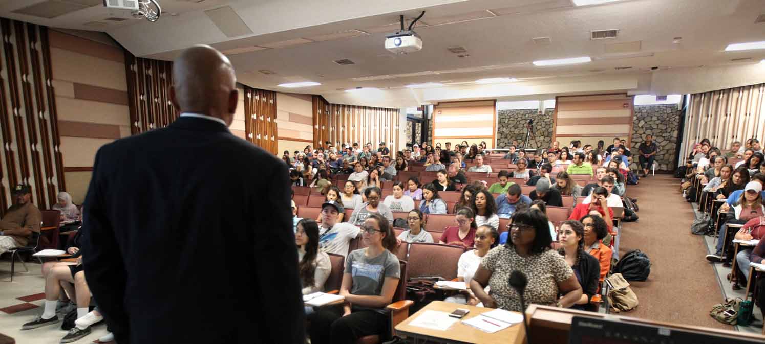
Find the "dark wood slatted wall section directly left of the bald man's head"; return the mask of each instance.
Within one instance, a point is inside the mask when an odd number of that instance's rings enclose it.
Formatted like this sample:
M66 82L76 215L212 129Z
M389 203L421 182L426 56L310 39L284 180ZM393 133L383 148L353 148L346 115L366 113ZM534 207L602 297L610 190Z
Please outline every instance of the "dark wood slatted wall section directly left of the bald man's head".
M140 134L169 125L180 115L170 102L173 63L135 57L125 50L130 130Z

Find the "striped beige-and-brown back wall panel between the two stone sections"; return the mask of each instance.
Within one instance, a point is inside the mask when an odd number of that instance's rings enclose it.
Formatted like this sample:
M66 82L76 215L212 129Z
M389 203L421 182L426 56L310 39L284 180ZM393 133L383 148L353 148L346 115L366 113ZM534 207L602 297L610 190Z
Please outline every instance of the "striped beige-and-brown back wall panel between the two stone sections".
M573 140L596 146L598 140L608 145L614 138L623 138L630 147L633 103L627 93L555 97L552 139L563 147Z

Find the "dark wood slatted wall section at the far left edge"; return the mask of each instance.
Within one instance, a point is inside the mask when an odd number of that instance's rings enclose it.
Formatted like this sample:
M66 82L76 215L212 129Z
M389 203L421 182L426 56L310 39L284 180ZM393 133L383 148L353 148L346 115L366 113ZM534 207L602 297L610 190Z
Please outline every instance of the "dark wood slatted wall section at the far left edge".
M47 28L0 19L0 215L10 188L30 185L41 209L65 188Z

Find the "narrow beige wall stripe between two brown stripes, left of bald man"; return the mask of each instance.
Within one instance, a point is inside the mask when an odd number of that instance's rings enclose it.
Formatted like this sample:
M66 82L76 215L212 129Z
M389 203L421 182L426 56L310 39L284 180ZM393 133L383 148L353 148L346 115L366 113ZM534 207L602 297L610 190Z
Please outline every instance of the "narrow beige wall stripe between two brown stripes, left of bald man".
M56 112L61 121L130 125L130 109L125 105L57 96Z

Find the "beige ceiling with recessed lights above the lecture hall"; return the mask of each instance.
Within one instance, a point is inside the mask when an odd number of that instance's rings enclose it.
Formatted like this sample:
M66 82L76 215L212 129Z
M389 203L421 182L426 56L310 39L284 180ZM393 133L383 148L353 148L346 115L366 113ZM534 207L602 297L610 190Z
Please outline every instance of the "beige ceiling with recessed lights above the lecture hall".
M190 44L212 44L229 54L239 81L246 85L321 93L327 99L367 101L369 105L539 98L609 89L691 92L695 85L666 76L682 71L686 79L698 80L710 70L733 71L722 74L734 80L722 81L735 83L743 79L736 78L737 73L746 73L747 78L753 70L765 74L765 69L754 67L765 59L765 50L724 52L731 43L765 41L765 23L755 23L765 14L762 0L622 0L582 7L574 6L571 0L159 1L167 13L153 24L133 19L103 21L129 15L99 5L83 5L78 11L54 18L14 12L38 0L0 2L0 15L63 28L106 31L134 54L164 60L171 60ZM230 8L220 9L226 5ZM206 10L216 11L206 14ZM413 18L421 10L426 13L415 30L422 37L423 49L405 55L387 52L383 47L385 34L398 29L398 15ZM86 25L94 21L109 24L103 28ZM617 37L590 39L590 31L604 29L618 29ZM241 35L227 37L226 33ZM533 38L537 37L549 37L549 43L536 44ZM675 37L682 39L673 43ZM449 47L464 47L467 52L453 54ZM535 67L531 63L578 56L592 57L593 62L568 67ZM355 64L333 62L340 59ZM658 69L653 70L655 67ZM273 73L259 72L264 70ZM698 75L688 77L688 73ZM505 85L474 83L488 77L519 81ZM277 86L299 81L322 85L301 89ZM426 82L447 86L424 90L404 87ZM715 85L704 83L704 87ZM360 93L363 96L343 92L355 87L384 90Z

